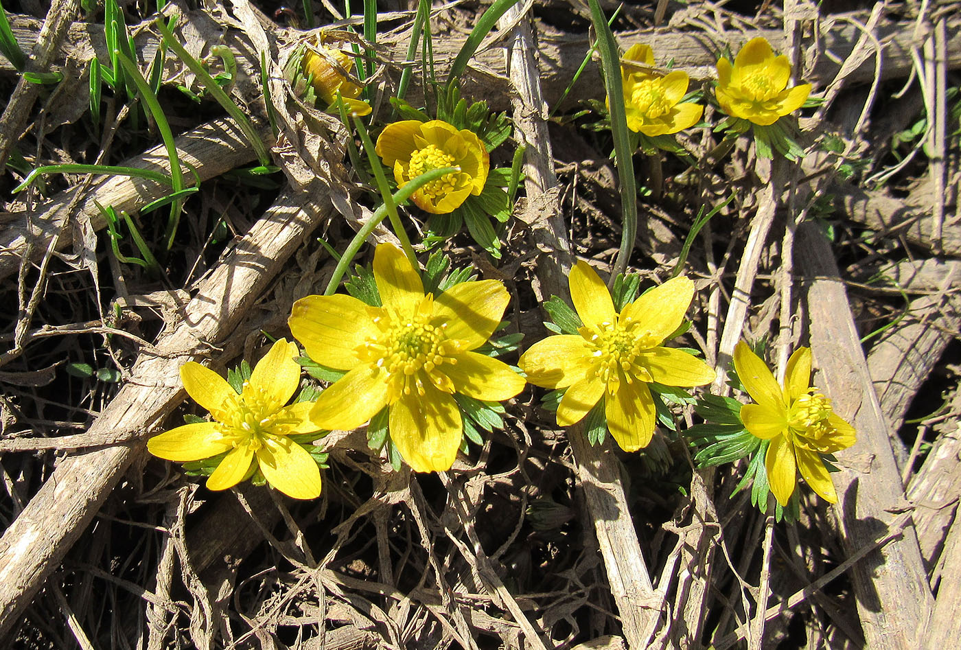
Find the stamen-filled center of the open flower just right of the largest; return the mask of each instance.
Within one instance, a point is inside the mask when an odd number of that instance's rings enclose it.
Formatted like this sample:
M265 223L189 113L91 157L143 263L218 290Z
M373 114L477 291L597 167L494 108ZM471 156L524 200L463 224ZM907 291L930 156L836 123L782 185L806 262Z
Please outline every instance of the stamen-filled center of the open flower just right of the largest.
M628 320L626 323L604 322L596 329L582 328L581 336L594 347L592 356L596 364L590 376L600 377L609 393L616 392L622 376L628 384L634 380L653 382L651 372L638 362L637 356L660 341L646 332L633 331L632 325Z

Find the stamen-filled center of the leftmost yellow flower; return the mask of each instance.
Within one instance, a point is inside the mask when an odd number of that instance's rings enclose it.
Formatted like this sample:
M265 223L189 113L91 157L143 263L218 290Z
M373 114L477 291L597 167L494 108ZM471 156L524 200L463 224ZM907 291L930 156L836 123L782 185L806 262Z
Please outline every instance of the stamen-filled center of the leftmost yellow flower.
M224 400L217 416L217 432L234 447L248 446L257 451L269 436L286 436L297 418L285 415L277 400L260 387L244 382L243 395Z

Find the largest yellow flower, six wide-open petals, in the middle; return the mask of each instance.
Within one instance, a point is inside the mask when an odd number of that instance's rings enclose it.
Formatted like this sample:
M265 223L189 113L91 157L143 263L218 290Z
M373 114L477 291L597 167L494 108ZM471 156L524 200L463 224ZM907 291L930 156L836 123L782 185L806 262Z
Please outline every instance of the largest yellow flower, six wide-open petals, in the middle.
M424 295L416 269L396 246L374 254L382 307L349 295L302 298L289 325L310 359L347 374L310 412L323 429L350 430L384 407L394 446L418 472L451 468L463 436L454 393L501 401L524 379L472 350L501 322L510 296L497 280L464 282Z

